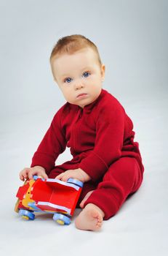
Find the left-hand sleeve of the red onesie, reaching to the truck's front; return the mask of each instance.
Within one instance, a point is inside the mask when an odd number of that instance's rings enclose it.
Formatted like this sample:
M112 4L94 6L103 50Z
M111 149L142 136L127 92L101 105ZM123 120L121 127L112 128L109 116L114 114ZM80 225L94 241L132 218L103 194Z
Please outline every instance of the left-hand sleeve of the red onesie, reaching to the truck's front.
M63 116L62 110L63 108L60 108L52 119L52 123L33 155L31 163L31 167L36 165L44 167L47 174L55 167L57 157L66 148L65 132L61 127L60 119Z

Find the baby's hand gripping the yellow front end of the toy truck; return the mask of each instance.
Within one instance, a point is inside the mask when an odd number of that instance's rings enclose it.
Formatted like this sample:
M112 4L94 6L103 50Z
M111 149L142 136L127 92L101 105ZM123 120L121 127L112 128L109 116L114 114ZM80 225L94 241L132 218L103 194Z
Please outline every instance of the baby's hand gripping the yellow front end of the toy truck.
M24 181L25 179L28 179L28 178L33 178L34 175L41 176L42 178L48 178L44 167L41 167L41 166L24 168L23 170L21 170L19 174L21 181Z

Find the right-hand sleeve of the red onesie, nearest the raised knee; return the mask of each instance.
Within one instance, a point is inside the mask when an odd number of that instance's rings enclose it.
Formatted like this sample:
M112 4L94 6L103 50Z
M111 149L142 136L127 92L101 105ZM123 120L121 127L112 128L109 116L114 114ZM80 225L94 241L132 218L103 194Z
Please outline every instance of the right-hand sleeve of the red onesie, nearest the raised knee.
M124 108L121 105L104 106L97 114L95 147L81 160L79 167L97 181L121 157L123 140Z

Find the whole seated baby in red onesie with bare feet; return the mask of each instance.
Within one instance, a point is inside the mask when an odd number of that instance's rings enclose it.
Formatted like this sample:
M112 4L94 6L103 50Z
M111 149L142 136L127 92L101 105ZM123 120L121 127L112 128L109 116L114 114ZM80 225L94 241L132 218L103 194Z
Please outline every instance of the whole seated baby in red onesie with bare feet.
M50 64L66 103L55 114L31 167L20 172L20 179L37 175L83 181L77 205L82 211L75 225L99 230L103 219L113 217L143 181L133 124L119 101L102 88L105 65L92 41L79 34L59 39ZM73 158L55 165L66 146Z

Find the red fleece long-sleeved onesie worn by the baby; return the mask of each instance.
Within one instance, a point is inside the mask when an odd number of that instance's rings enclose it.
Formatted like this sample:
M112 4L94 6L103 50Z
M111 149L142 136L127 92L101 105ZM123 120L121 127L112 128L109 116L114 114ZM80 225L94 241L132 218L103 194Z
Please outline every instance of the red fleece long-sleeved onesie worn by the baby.
M84 108L66 102L55 114L31 167L44 167L49 178L80 167L92 179L84 184L79 203L94 189L84 206L95 203L104 211L104 219L109 219L143 180L144 168L132 129L124 108L105 89ZM66 146L73 159L55 166Z

